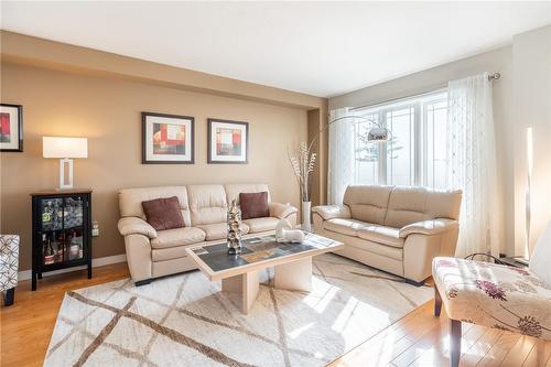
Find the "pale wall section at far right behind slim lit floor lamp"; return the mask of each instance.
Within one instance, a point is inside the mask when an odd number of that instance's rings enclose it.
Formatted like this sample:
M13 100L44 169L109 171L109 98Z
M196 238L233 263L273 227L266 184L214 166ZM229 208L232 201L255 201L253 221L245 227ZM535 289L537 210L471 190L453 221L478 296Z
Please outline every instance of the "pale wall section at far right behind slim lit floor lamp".
M533 130L530 249L551 220L551 25L514 37L515 245L525 253L526 128Z

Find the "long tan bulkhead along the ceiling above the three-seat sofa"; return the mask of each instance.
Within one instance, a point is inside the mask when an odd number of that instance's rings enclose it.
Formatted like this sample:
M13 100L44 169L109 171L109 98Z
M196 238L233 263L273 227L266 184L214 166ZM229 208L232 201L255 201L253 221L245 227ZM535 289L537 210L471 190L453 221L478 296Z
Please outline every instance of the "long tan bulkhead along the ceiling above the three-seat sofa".
M2 60L40 67L147 82L175 89L208 93L304 109L321 108L320 98L249 82L152 63L0 30Z

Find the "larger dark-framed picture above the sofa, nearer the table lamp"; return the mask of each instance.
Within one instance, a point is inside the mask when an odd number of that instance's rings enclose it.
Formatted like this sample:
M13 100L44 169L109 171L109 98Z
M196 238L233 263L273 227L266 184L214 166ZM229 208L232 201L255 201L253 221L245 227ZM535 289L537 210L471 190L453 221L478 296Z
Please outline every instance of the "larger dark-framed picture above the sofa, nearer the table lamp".
M142 164L195 163L195 118L142 112Z

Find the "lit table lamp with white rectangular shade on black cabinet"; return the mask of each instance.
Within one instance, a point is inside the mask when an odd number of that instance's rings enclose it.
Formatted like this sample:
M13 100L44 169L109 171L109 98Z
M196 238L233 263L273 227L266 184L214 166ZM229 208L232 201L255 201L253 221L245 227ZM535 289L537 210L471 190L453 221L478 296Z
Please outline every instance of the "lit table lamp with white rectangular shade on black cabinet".
M88 158L88 139L42 137L42 156L60 159L60 190L73 187L73 158ZM68 164L68 182L65 165Z

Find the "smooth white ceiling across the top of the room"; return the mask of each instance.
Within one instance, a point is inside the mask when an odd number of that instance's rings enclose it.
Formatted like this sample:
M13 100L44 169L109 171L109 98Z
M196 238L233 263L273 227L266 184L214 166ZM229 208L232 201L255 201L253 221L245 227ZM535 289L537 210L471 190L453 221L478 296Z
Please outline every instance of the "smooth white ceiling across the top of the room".
M7 2L1 28L329 97L511 42L551 2Z

